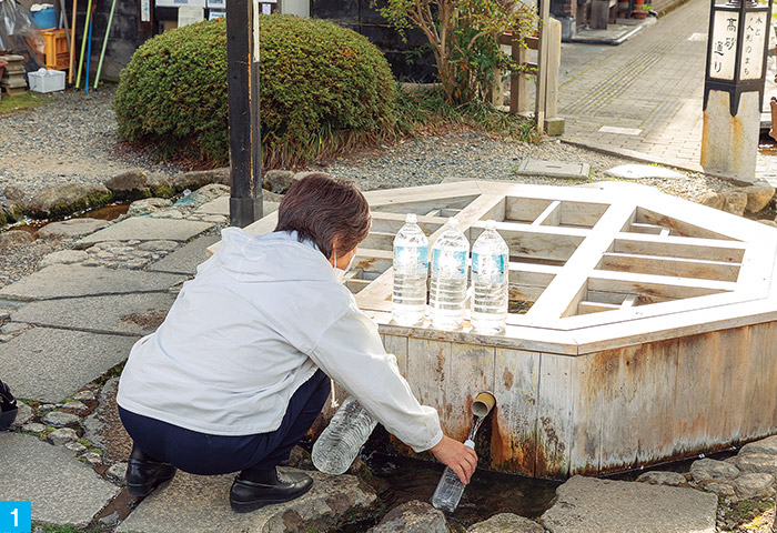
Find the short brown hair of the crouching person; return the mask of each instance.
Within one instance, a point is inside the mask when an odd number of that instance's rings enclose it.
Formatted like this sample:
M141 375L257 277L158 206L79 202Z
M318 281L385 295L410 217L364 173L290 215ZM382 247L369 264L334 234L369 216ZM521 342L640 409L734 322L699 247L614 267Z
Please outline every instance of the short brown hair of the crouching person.
M278 209L275 231L296 231L300 240L310 240L326 257L339 238L335 252L345 254L370 233L370 204L353 183L315 172L295 182Z

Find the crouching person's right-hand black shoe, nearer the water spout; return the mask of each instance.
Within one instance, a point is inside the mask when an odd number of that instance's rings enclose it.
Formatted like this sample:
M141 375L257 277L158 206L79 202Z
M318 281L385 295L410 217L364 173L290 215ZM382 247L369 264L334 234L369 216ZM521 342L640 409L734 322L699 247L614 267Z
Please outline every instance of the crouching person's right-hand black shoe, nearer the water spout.
M230 505L235 513L248 513L272 503L300 497L313 486L310 475L302 472L279 472L274 484L256 483L235 476L230 489Z

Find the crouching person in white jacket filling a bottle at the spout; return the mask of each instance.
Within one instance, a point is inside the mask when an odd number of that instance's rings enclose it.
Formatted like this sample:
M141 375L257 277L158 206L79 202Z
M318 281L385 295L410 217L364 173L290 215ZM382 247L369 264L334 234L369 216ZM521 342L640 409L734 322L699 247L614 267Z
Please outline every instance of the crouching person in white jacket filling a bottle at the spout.
M341 383L400 440L430 450L467 483L470 447L443 435L386 354L377 326L340 283L370 232L353 184L317 173L296 182L274 232L222 232L219 251L185 283L157 332L132 349L119 413L133 449L130 494L148 495L175 470L238 472L236 512L293 500L313 481L276 465Z

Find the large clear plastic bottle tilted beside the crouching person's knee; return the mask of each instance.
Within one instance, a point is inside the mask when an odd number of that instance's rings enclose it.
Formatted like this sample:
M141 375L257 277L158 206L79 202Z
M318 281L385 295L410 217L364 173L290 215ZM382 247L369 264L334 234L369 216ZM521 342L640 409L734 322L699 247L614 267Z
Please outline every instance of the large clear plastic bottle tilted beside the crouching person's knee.
M313 444L313 464L327 474L344 473L375 425L377 421L353 396L349 396Z

